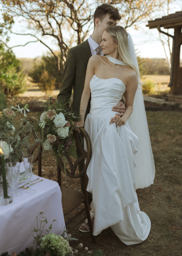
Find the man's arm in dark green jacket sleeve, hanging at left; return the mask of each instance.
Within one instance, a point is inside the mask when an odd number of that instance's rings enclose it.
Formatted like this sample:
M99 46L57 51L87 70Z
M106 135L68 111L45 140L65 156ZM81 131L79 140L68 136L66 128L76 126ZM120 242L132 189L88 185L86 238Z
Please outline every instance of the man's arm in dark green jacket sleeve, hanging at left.
M59 102L67 102L66 106L69 107L69 101L72 93L72 87L74 83L76 70L75 58L72 49L68 50L66 62L64 65L64 71L62 74L62 84L60 87L57 99Z

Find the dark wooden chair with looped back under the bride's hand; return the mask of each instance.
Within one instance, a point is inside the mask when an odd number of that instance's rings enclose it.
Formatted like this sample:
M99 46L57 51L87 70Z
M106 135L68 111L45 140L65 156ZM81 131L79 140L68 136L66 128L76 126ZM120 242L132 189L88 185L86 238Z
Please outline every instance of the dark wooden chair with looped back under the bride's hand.
M87 152L84 150L81 138L79 136L79 132L74 131L74 137L76 141L76 145L79 148L79 150L82 152L82 156L80 156L76 161L73 163L71 158L68 154L64 154L64 156L67 158L67 161L69 163L70 171L66 169L66 173L70 178L77 179L84 175L84 194L82 194L79 191L73 190L68 187L62 187L61 186L61 171L64 172L64 165L61 159L59 159L59 163L57 166L57 178L58 178L58 184L61 187L62 192L62 207L63 207L63 214L64 216L67 216L70 212L73 212L78 206L80 206L82 203L84 203L84 208L80 210L77 214L75 214L71 219L69 219L66 222L66 226L71 223L73 220L75 220L79 215L82 214L82 212L86 211L86 215L77 221L72 227L69 229L72 230L76 226L78 226L81 222L83 222L86 218L88 219L88 225L90 228L90 233L92 236L92 241L95 243L95 237L93 236L93 224L90 217L90 211L89 211L89 204L88 204L88 192L86 191L87 185L88 185L88 177L86 175L87 167L90 163L91 157L92 157L92 145L90 138L88 136L88 133L85 131L84 128L79 128L80 133L83 135L86 141L87 145ZM75 174L76 167L81 161L84 161L86 159L85 166L81 173Z

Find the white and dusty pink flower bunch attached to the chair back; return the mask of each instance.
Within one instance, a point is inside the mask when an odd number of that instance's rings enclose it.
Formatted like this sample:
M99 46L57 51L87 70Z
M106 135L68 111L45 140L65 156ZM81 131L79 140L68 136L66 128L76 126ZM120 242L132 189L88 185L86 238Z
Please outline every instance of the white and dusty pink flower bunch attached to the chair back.
M44 150L53 150L57 159L58 156L64 158L64 153L77 157L73 127L79 116L65 110L64 105L54 97L49 97L47 107L40 116L42 147Z

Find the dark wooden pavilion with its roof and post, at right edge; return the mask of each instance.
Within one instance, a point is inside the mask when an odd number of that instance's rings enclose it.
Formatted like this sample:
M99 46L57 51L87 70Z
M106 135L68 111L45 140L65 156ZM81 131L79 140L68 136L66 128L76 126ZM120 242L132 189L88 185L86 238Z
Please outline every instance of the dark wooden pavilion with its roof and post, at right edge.
M173 38L173 49L171 58L171 76L168 87L171 87L169 100L174 100L178 103L182 103L182 67L180 67L180 48L182 44L182 11L163 16L155 20L148 21L146 27L157 28L160 33ZM170 35L161 30L173 28L174 35Z

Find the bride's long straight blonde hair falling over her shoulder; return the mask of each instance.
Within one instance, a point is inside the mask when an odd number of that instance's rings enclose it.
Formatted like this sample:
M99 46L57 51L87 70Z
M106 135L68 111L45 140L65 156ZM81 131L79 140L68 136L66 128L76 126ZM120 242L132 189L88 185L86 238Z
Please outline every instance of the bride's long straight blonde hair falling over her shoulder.
M127 40L128 33L126 32L126 29L122 26L111 26L106 28L105 31L112 36L114 43L118 45L118 53L121 56L123 62L136 71L139 80L137 67L129 54Z

